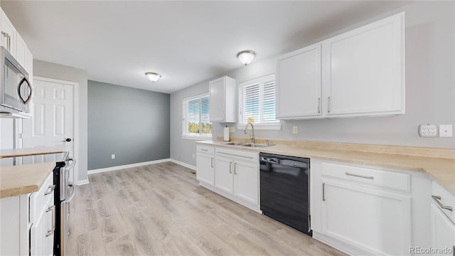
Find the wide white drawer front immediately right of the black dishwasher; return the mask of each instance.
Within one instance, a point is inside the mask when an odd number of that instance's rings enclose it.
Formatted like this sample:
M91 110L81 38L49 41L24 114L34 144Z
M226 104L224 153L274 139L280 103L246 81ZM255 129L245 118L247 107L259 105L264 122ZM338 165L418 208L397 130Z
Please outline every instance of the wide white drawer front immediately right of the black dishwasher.
M410 192L410 174L323 162L322 175L371 187Z

